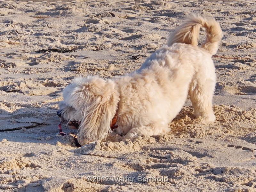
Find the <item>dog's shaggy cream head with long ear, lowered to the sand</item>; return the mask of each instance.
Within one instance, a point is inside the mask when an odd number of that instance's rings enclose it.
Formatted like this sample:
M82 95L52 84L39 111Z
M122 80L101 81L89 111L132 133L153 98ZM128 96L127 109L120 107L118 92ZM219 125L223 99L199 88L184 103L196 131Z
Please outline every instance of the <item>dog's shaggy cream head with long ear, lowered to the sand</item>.
M119 101L112 80L77 77L64 89L63 98L57 115L78 128L77 140L81 145L108 135Z

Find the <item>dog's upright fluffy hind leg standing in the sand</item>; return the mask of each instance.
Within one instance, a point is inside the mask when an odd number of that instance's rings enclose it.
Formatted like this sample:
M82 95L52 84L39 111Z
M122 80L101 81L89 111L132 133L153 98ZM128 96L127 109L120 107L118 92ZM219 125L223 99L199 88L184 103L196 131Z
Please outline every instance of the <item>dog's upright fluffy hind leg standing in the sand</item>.
M215 73L208 78L205 74L207 73L203 72L195 76L190 84L189 95L195 116L202 116L205 122L214 122L212 97L215 89Z

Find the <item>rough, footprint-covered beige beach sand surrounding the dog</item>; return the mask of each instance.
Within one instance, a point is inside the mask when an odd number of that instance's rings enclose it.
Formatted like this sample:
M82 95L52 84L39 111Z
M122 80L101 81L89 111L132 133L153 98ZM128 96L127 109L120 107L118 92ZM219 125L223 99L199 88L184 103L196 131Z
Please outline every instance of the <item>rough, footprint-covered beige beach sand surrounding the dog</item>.
M255 1L0 7L0 191L256 191ZM188 100L168 135L114 135L81 148L58 135L61 92L74 77L139 68L191 12L219 20L218 56L242 57L213 57L214 124L195 119ZM34 52L52 48L74 52Z

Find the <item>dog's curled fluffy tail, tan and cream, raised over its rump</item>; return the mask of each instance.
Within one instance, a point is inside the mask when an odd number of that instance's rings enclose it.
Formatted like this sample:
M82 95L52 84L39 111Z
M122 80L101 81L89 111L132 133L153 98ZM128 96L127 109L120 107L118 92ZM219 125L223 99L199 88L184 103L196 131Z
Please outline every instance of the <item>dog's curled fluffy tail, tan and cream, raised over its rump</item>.
M206 40L201 45L212 55L219 48L220 39L223 36L219 23L213 18L203 18L199 15L191 15L185 22L176 28L169 36L168 45L185 43L197 46L200 28L205 28Z

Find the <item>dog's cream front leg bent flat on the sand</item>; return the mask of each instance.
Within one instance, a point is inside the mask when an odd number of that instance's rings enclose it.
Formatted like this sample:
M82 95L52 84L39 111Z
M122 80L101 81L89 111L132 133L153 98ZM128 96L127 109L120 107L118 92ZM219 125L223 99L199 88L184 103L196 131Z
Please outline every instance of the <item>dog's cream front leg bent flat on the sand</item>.
M153 135L159 135L159 134L166 134L170 131L169 127L155 127L155 126L140 126L140 127L135 127L132 128L129 132L124 135L124 140L125 139L135 139L139 136L142 135L147 135L147 136L153 136Z

